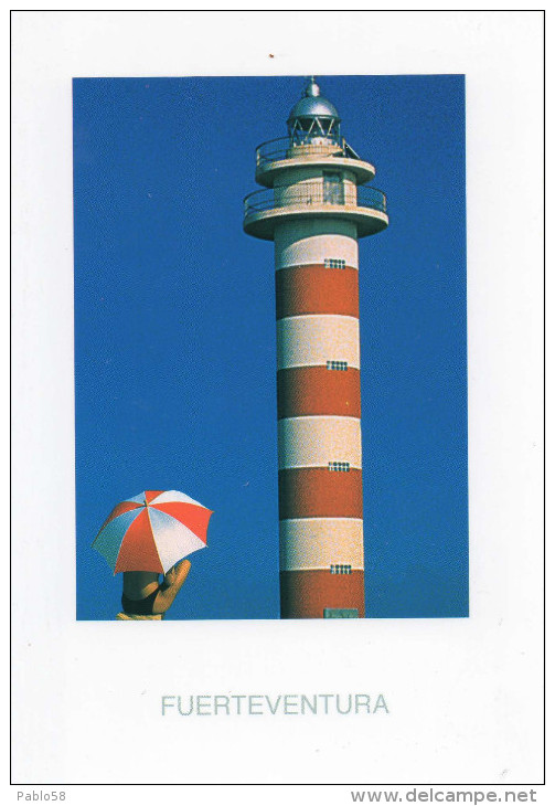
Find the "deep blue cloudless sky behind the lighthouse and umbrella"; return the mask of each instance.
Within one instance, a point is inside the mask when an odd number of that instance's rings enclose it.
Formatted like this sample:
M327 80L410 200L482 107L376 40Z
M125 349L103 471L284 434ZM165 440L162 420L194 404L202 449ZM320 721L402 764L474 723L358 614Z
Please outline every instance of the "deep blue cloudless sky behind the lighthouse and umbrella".
M321 76L391 224L360 242L366 615L468 613L465 82ZM168 618L277 618L273 244L243 233L255 147L302 77L74 81L77 617L121 576L114 505L214 510Z

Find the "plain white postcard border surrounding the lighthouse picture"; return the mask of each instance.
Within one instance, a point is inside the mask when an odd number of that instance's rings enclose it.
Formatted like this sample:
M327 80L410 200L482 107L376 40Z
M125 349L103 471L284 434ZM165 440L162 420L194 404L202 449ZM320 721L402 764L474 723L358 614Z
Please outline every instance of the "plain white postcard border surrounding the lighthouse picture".
M331 804L374 784L541 783L542 25L540 12L15 12L18 789L348 785L241 799ZM467 76L471 617L77 623L71 78L308 73ZM228 692L382 692L391 714L160 717L163 693ZM71 802L170 792L72 787Z

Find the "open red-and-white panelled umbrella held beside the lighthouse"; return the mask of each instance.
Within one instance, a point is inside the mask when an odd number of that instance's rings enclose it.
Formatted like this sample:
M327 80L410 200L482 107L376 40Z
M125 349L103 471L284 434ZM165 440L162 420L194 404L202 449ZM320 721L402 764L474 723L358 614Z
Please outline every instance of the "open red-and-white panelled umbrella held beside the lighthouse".
M178 490L147 490L110 512L93 548L120 571L157 571L206 545L212 510Z

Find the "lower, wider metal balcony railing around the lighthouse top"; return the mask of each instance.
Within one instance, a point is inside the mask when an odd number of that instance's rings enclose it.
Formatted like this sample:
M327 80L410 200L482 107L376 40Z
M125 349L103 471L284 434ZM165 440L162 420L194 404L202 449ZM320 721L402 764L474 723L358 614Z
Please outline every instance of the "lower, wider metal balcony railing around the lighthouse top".
M386 213L386 199L377 188L361 184L327 185L324 182L302 182L298 187L280 187L268 190L255 190L245 197L245 218L267 210L289 206L344 205L346 208L370 208Z

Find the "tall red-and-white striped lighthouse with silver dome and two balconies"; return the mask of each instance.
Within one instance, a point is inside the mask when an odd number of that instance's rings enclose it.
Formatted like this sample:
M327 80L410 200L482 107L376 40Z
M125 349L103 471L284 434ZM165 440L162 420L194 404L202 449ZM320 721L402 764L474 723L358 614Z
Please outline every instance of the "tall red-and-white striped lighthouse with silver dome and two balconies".
M244 219L275 244L281 617L362 617L359 238L385 197L313 77L287 126L256 149Z

